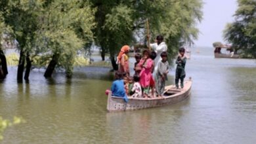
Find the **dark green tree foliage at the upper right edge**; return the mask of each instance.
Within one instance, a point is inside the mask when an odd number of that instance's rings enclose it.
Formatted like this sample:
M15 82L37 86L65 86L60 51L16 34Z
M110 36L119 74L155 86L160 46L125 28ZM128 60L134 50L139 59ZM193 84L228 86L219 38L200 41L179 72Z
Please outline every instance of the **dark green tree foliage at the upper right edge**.
M256 1L238 0L235 22L227 24L224 38L244 56L256 58Z

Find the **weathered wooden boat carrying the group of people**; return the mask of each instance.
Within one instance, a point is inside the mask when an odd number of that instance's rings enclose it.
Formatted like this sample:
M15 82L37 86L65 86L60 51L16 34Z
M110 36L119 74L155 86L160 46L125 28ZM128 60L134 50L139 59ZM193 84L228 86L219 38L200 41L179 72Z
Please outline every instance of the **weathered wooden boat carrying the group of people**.
M129 111L137 109L146 109L151 107L161 107L178 103L190 96L192 81L184 81L184 88L176 89L175 85L165 86L165 94L163 98L129 98L126 103L123 98L108 94L107 110L114 111Z

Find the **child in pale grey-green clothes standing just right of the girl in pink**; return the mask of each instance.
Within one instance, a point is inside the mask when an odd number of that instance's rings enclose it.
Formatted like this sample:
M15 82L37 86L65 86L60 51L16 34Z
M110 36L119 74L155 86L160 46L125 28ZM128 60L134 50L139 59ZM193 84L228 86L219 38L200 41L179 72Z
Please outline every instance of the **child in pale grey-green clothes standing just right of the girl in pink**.
M165 81L167 81L167 73L169 73L169 63L167 62L167 52L161 53L161 61L158 63L156 71L156 93L157 96L163 96L165 90Z

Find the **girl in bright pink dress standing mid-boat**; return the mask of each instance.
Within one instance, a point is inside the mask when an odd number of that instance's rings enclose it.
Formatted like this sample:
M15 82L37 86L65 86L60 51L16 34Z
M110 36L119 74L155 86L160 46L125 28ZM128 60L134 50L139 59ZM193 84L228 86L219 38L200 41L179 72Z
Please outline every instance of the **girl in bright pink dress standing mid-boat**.
M143 89L143 96L150 97L148 94L150 91L150 80L152 79L151 70L154 65L154 61L150 58L149 50L143 51L143 58L140 60L138 65L142 67L140 71L140 85Z

